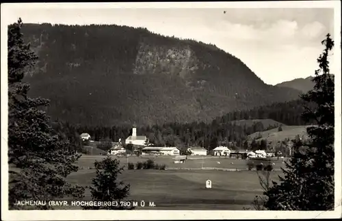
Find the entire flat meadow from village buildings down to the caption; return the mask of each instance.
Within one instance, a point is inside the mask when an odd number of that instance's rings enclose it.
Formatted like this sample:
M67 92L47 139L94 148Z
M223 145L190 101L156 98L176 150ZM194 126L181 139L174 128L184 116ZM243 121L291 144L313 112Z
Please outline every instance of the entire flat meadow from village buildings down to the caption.
M208 158L209 157L209 158ZM79 166L93 167L94 160L103 156L82 156ZM166 164L166 171L127 170L127 158L118 158L125 171L118 177L120 181L129 183L131 194L127 200L145 201L145 207L136 209L244 209L252 207L254 196L262 194L259 177L256 171L246 171L246 160L231 158L189 157L184 164L174 164L172 156L150 158L129 157L128 162L144 162L155 160L157 164ZM220 162L220 164L218 164ZM233 162L233 164L231 164ZM200 169L202 168L206 169ZM283 166L281 161L276 168ZM211 168L232 168L244 171L222 171ZM176 168L188 168L176 169ZM190 170L191 169L191 170ZM272 172L272 180L278 180L279 171ZM96 175L93 168L81 169L68 177L70 183L81 186L91 185ZM205 188L205 181L212 181L212 188ZM86 191L85 200L90 200L90 192ZM155 207L148 207L148 202ZM63 209L80 209L67 207Z

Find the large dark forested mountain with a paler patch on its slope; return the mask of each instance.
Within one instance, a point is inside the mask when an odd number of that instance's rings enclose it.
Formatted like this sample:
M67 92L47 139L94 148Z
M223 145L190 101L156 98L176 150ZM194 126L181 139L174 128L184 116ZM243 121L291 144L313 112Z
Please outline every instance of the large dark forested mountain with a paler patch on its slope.
M91 126L210 122L233 110L285 102L300 91L267 85L212 44L117 25L26 24L39 57L29 95L53 119Z

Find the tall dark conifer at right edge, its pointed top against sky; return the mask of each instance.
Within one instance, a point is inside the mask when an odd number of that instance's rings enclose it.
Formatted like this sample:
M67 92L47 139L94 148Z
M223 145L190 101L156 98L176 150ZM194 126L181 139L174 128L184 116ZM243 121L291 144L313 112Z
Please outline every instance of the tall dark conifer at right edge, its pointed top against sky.
M334 46L330 35L322 41L324 52L317 59L315 87L301 96L306 102L315 102L316 108L307 108L305 121L315 120L316 126L307 128L311 143L303 147L295 141L294 153L283 169L280 183L273 182L264 194L264 206L272 210L334 209L334 76L330 74L328 55Z

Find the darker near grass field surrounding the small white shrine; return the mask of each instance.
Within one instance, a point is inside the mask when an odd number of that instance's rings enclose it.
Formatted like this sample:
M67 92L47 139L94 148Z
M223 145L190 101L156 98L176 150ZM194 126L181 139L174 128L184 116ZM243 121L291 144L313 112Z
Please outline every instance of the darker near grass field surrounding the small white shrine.
M272 172L277 180L278 172ZM68 177L71 183L91 184L94 170L79 171ZM254 196L262 194L254 171L124 171L120 181L131 185L127 200L154 202L156 207L137 209L243 209L250 207ZM205 188L211 179L212 188ZM86 192L86 200L90 193ZM68 208L69 209L69 208ZM77 209L77 208L70 208Z

